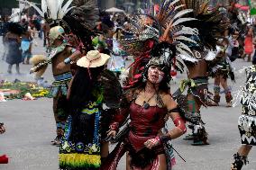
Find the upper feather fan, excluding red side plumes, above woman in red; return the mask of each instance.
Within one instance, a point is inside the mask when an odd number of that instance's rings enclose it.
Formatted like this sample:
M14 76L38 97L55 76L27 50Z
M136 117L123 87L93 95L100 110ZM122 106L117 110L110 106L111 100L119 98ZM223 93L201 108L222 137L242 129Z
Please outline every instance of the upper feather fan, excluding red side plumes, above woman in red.
M153 4L150 6L152 5ZM133 40L123 40L123 42L128 41L132 46L131 41L134 41L137 44L138 41L143 42L148 39L156 40L158 43L167 41L168 43L176 45L176 49L179 54L191 56L191 58L193 58L194 54L187 46L187 43L197 44L197 41L188 37L190 35L197 35L198 31L197 29L184 26L184 23L193 22L197 19L193 17L185 17L188 13L192 13L193 10L184 10L184 6L185 4L181 4L179 0L163 0L160 4L158 13L137 14L133 19L131 19L131 31L136 36ZM184 43L184 41L187 41L187 43ZM124 47L125 45L126 44L124 44ZM134 49L134 51L137 52L137 49Z

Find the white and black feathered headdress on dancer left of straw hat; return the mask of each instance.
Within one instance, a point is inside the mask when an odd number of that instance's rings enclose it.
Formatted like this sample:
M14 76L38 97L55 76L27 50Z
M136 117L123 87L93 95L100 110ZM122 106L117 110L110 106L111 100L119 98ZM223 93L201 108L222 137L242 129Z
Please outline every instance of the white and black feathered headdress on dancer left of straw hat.
M66 33L78 36L80 48L93 49L90 37L98 19L98 8L94 0L41 0L41 9L35 4L20 0L33 6L42 17L50 23L50 27L60 25ZM82 47L81 47L82 46Z

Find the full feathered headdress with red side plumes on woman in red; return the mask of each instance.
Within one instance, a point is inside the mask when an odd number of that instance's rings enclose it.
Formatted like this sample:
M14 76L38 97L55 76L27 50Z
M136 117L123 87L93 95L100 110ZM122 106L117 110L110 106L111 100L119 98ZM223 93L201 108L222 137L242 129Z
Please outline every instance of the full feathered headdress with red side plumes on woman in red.
M150 4L148 2L147 4ZM153 4L150 4L153 6ZM174 54L169 59L170 64L180 67L182 70L185 66L181 58L177 58L178 62L173 62L176 51L179 54L194 58L194 54L184 41L197 44L197 41L187 38L185 35L197 35L197 29L183 26L184 22L195 21L193 17L184 17L187 13L193 12L192 9L183 9L184 4L179 0L163 0L160 4L158 13L147 10L145 13L137 14L131 19L131 32L135 35L133 39L121 40L124 50L128 49L128 53L132 53L137 57L133 63L133 72L142 69L145 58L154 57L153 53L161 53L166 49L172 50ZM167 45L169 44L169 45ZM174 47L173 48L170 47ZM157 48L154 48L157 47ZM163 49L162 49L163 48ZM152 50L154 49L154 50ZM164 52L161 53L161 56ZM160 58L160 56L159 56ZM177 67L177 66L175 66Z

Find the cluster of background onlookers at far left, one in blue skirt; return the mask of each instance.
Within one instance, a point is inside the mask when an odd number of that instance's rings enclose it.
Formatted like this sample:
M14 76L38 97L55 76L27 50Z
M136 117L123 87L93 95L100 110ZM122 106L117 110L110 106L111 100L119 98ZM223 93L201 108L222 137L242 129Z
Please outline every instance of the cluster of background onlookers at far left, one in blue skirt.
M1 34L3 35L4 53L2 60L9 65L7 73L12 74L12 67L16 65L16 73L20 74L20 64L30 64L32 58L32 46L37 43L33 41L35 37L47 40L46 23L43 18L34 14L28 16L23 14L20 22L12 22L10 16L1 18ZM44 43L46 46L46 42Z

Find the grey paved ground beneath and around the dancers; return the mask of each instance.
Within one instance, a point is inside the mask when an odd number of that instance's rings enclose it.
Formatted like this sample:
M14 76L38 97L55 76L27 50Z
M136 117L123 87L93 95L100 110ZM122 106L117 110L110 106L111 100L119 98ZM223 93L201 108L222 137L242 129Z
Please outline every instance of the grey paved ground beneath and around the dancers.
M2 37L0 37L2 40ZM37 47L33 47L33 54L41 54L44 49L41 40L36 39ZM0 42L0 57L4 49ZM249 66L250 63L237 59L234 63L236 69ZM0 61L0 79L32 81L28 74L29 65L21 65L21 76L6 74L4 61ZM186 77L179 75L177 82ZM50 67L45 74L46 80L52 81ZM243 85L244 75L236 75L236 84L233 92ZM210 89L213 91L213 80L210 80ZM173 84L171 89L177 89L178 84ZM8 165L0 165L0 170L57 170L58 148L50 145L50 140L55 137L55 125L51 109L52 99L41 98L35 101L12 100L0 103L0 121L5 122L6 132L0 136L0 155L7 154L10 158ZM234 108L224 106L224 94L221 106L209 107L202 110L203 121L209 133L209 146L194 147L189 141L182 139L173 140L174 148L186 159L176 154L177 165L174 170L229 170L233 153L240 146L240 134L237 129L237 120L241 113L241 105ZM169 129L173 125L169 123ZM252 148L249 156L249 165L243 170L256 170L256 150ZM124 159L118 169L124 170Z

